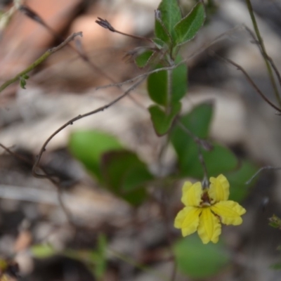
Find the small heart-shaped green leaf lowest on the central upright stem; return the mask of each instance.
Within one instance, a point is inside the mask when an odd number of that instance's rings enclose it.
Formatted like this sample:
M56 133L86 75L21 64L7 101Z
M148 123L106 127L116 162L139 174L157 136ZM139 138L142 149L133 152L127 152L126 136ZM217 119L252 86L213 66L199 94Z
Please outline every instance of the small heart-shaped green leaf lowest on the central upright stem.
M151 105L148 110L155 132L158 136L162 136L169 131L175 117L181 111L181 103L174 103L169 114L164 112L158 105Z

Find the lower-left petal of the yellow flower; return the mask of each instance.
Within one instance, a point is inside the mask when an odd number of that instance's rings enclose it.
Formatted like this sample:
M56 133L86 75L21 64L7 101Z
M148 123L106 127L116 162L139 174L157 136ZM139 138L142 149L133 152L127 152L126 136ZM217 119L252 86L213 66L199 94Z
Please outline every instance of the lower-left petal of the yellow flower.
M185 207L178 212L174 226L181 228L183 236L195 233L199 224L199 216L202 209L195 207Z

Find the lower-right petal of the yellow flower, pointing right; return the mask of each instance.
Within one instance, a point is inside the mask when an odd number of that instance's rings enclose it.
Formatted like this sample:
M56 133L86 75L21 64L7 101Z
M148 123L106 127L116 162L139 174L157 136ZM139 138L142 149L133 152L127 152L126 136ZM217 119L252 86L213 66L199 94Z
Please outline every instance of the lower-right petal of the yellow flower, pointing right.
M241 215L246 213L246 210L234 201L221 201L213 206L211 210L220 216L221 222L233 226L239 226L242 223Z

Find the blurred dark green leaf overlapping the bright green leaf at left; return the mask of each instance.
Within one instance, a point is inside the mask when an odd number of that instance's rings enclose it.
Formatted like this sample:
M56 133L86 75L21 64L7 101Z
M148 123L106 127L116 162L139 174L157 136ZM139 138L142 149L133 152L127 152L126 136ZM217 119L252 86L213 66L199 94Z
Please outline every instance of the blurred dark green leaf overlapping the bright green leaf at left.
M103 155L103 178L107 188L133 205L146 198L145 185L153 176L147 166L130 151L112 151Z

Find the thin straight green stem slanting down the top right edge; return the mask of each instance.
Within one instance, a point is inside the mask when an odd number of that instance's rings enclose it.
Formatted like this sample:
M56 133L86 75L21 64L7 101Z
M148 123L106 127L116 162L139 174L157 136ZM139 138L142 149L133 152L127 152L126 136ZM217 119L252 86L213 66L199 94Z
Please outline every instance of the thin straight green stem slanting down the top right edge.
M263 60L266 63L266 68L268 70L268 75L269 75L271 84L273 86L273 90L274 90L274 93L275 93L275 98L276 98L277 102L279 103L279 105L281 107L280 93L279 93L279 91L277 89L277 84L276 84L275 79L274 79L273 70L272 70L272 68L270 66L270 63L268 62L268 59L267 59L268 58L268 54L266 53L266 47L263 44L263 39L261 37L261 33L259 32L259 27L258 27L258 24L256 22L256 18L254 16L253 7L251 6L251 0L246 0L246 3L247 3L248 11L249 11L249 14L250 14L250 17L251 17L251 22L252 22L253 27L254 27L254 32L255 32L256 37L257 37L257 39L259 41L259 44L261 45L261 51L263 52Z

